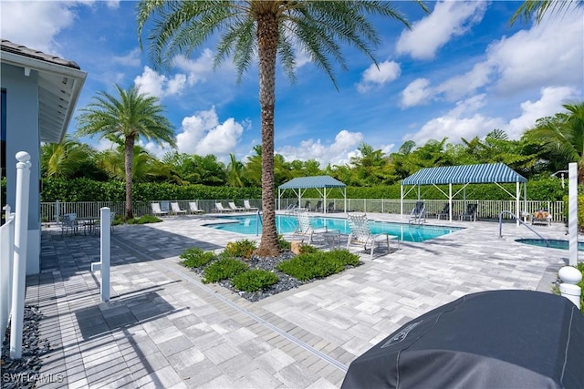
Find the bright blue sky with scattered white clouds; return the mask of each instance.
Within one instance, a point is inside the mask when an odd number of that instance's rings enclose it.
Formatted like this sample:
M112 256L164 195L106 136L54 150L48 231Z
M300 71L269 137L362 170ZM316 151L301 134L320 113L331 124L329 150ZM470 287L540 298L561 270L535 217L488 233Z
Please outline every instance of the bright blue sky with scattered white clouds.
M361 142L391 153L406 140L460 143L494 128L519 138L537 118L584 100L584 7L538 26L509 26L521 2L426 4L428 15L414 3L394 2L412 31L376 23L380 69L346 49L349 70L335 73L339 90L301 53L296 84L278 71L276 152L288 161L317 159L324 168L346 163ZM0 6L3 39L74 60L88 72L77 108L99 90L115 92L115 83L136 84L161 98L180 152L224 161L233 152L245 160L261 142L257 67L237 85L229 61L212 69L213 42L162 72L139 49L135 2L2 0ZM169 150L142 146L158 158Z

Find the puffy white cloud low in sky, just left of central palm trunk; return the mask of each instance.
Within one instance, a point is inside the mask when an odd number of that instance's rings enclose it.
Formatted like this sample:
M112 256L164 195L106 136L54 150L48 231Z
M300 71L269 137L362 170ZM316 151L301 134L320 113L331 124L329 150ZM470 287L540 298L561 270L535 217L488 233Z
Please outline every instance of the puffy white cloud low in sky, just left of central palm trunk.
M183 118L182 132L176 136L179 152L197 155L214 154L218 159L235 152L244 133L244 126L228 118L219 122L215 108L196 112Z

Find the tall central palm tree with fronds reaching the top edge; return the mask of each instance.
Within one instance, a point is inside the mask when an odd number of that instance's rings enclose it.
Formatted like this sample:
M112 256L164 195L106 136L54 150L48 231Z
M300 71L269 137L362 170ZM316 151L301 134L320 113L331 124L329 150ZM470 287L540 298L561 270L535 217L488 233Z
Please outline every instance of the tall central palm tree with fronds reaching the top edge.
M219 33L214 65L233 54L237 79L257 56L259 103L262 127L262 210L264 224L260 255L279 252L276 234L274 185L274 107L276 104L276 59L294 81L295 48L300 48L327 73L335 87L334 58L347 68L341 44L354 46L370 56L380 43L367 15L397 19L405 17L384 1L166 1L143 0L138 5L139 36L148 21L153 28L150 41L155 66L171 65L178 54L186 54Z

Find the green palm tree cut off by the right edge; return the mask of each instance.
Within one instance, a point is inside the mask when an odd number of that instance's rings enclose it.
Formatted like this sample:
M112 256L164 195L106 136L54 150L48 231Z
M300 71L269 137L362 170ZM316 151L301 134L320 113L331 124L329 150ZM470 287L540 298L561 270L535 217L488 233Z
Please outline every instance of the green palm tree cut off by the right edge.
M524 137L541 142L552 158L578 162L579 182L584 182L584 102L562 107L567 112L537 120L536 127L528 129Z

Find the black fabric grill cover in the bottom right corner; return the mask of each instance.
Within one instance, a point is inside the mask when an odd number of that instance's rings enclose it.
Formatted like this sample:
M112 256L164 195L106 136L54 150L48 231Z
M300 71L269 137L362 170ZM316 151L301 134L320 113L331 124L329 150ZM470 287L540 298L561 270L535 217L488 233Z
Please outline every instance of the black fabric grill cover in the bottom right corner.
M584 388L584 315L549 293L468 294L350 363L350 388Z

